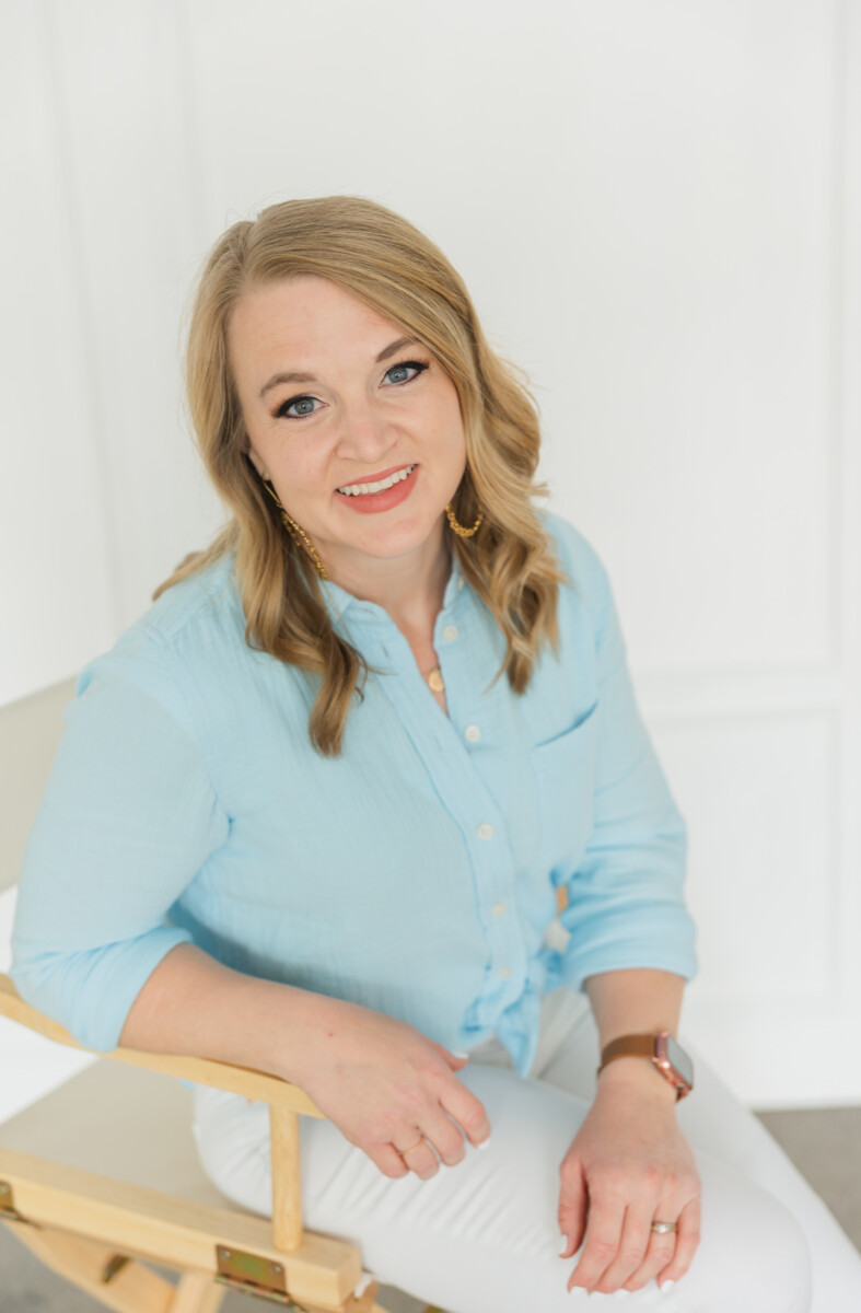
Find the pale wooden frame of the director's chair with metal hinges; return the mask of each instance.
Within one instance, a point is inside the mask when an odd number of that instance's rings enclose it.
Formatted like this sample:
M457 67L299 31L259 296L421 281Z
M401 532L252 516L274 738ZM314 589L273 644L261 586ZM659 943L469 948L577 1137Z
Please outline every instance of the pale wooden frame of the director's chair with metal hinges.
M25 1003L4 974L0 1015L96 1052ZM117 1313L218 1313L227 1288L304 1313L385 1313L378 1281L354 1295L358 1247L302 1228L299 1116L324 1115L298 1086L210 1058L126 1048L97 1056L269 1104L272 1222L0 1146L0 1221L47 1267ZM178 1284L147 1260L177 1270Z

